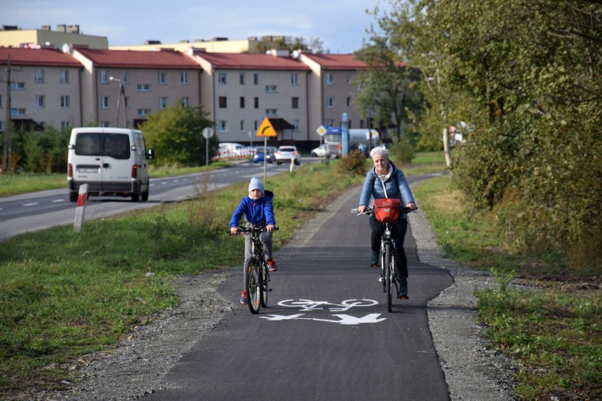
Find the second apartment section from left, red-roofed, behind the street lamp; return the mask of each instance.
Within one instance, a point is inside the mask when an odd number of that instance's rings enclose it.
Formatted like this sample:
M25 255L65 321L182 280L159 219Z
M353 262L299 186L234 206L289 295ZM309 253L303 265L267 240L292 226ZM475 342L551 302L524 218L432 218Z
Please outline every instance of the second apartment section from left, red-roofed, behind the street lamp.
M83 66L84 124L137 127L150 114L180 101L201 104L201 66L180 52L73 46L65 51Z

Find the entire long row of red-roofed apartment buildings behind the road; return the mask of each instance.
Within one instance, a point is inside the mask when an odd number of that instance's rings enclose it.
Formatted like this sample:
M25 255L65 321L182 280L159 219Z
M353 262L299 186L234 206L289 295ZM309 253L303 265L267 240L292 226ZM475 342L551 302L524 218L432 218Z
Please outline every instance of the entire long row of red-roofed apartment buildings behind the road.
M30 124L136 127L150 114L182 101L202 105L223 142L257 140L254 133L266 116L277 125L273 144L295 143L305 150L319 143L319 126L341 126L343 113L350 128L367 127L352 105L358 91L353 78L367 65L353 54L194 48L182 53L73 45L61 53L0 47L4 82L8 54L13 54L11 70L18 70L11 75L11 116ZM6 85L3 89L0 110L6 107ZM4 114L0 124L2 119Z

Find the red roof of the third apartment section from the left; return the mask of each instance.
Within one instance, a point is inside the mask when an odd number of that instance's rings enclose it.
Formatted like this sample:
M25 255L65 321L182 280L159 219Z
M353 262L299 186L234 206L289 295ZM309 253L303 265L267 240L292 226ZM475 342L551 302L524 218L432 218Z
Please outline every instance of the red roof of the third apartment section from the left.
M309 67L292 57L252 53L204 53L195 52L215 68L225 70L288 70L309 71Z

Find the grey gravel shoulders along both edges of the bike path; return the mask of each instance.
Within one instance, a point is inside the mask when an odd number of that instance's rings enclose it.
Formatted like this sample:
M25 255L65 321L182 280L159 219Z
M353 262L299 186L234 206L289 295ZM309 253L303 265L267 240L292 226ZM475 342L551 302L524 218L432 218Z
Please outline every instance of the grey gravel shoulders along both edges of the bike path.
M319 227L324 213L334 213L336 204L348 196L343 194L333 207L319 213L300 231ZM495 280L488 273L468 270L445 259L420 210L411 214L410 225L420 261L445 268L454 277L454 284L428 304L430 330L450 400L517 400L511 364L492 350L473 320L473 293L490 287ZM230 271L179 277L175 281L181 301L177 308L163 311L148 325L135 328L110 352L82 357L70 364L69 369L81 371L80 383L64 383L69 390L29 393L18 400L138 400L161 390L163 378L177 361L235 308L218 292Z

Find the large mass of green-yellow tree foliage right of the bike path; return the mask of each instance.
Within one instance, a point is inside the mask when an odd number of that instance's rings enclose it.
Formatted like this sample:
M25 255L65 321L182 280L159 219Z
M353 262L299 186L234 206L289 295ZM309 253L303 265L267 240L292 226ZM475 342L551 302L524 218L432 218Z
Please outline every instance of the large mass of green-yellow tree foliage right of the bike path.
M436 139L437 126L473 127L454 158L456 182L473 205L497 210L524 249L580 246L599 260L599 1L391 4L379 26L423 76L425 110L411 114L415 128Z

